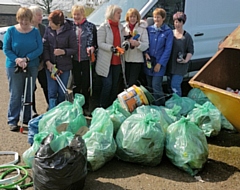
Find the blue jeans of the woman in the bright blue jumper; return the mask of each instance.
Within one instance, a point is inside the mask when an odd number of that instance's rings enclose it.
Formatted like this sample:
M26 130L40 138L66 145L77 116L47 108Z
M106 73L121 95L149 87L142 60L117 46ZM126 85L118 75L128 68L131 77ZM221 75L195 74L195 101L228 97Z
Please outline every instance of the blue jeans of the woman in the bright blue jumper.
M38 74L38 67L28 67L28 71L14 73L15 68L6 68L7 78L9 82L10 99L8 105L8 124L17 125L19 121L20 112L22 109L22 96L24 94L25 79L28 76L32 76L32 93L34 91L36 78ZM30 78L28 78L26 101L31 102L30 93ZM30 106L26 105L24 108L23 121L28 122L31 119Z

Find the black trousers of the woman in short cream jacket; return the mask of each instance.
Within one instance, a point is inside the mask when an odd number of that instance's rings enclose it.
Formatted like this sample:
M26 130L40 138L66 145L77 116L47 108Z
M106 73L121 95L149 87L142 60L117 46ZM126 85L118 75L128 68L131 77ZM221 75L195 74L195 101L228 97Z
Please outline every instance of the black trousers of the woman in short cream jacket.
M137 84L137 80L142 69L142 64L143 63L125 62L125 74L128 86Z

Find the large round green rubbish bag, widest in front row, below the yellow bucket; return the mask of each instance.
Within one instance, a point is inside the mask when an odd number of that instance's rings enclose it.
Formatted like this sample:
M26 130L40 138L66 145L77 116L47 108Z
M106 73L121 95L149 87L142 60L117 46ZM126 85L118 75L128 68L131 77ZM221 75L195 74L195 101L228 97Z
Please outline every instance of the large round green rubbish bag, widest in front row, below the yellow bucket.
M156 112L132 114L122 123L116 136L119 159L148 166L161 162L165 132Z

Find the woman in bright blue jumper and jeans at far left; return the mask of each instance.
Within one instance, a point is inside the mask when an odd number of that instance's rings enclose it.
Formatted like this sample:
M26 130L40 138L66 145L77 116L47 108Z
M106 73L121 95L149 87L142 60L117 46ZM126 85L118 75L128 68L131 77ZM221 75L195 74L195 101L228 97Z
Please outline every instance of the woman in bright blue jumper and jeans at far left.
M39 30L32 27L32 18L33 14L30 9L19 8L16 14L18 24L8 28L4 35L3 52L6 55L6 72L10 92L8 125L11 131L17 131L19 128L17 124L22 107L22 95L25 78L28 76L32 77L32 88L30 88L29 82L26 102L30 102L30 89L35 87L39 56L43 51L42 38ZM26 106L23 122L28 123L30 119L31 109L30 106Z

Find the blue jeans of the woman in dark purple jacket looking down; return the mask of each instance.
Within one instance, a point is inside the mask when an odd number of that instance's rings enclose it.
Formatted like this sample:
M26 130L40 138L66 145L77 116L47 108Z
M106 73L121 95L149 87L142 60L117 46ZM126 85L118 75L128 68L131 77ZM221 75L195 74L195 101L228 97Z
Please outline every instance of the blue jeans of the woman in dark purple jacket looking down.
M57 104L63 102L65 100L65 92L61 89L59 84L56 80L51 78L51 72L46 69L46 76L47 76L47 84L48 84L48 99L55 99ZM70 76L69 71L63 71L63 73L59 76L62 80L64 86L67 88L68 79Z

